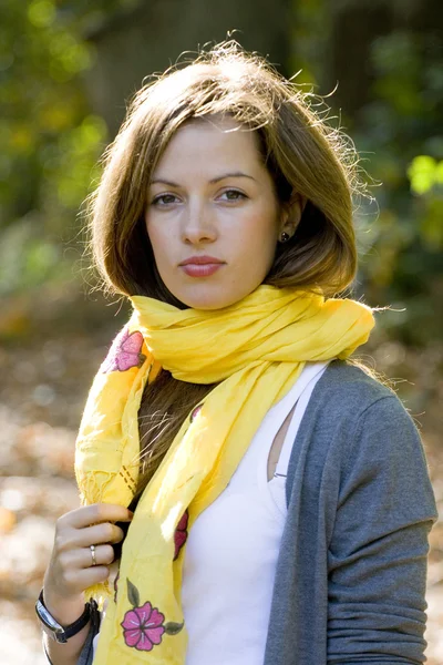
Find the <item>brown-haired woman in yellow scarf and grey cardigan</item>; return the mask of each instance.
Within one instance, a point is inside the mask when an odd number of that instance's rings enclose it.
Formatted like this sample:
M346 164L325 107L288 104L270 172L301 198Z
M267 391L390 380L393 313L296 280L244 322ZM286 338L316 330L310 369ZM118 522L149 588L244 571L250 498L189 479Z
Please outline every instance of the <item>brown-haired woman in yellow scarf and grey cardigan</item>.
M38 603L54 665L424 659L434 497L401 402L346 360L373 326L333 297L356 160L308 100L222 44L144 88L107 151L93 247L134 313Z

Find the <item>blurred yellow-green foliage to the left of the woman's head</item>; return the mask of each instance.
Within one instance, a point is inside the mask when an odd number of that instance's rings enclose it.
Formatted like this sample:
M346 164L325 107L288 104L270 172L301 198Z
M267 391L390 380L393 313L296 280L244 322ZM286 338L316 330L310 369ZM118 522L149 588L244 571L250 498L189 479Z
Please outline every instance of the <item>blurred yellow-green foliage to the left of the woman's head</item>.
M106 139L80 74L94 52L51 0L1 7L0 295L66 279L64 249Z

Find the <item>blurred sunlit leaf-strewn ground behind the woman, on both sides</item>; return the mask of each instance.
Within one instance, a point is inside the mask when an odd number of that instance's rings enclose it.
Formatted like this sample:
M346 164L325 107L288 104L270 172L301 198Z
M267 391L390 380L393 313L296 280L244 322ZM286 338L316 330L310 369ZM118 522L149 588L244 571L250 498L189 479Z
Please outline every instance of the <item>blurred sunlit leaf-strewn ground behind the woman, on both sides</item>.
M93 335L51 327L25 347L0 349L0 663L44 665L34 602L56 518L79 505L73 479L75 430L92 377L119 325ZM406 350L378 340L378 370L396 386L422 429L440 521L429 559L429 665L443 664L443 351ZM365 358L368 360L369 356ZM413 383L412 378L413 377ZM425 412L424 412L425 411Z

